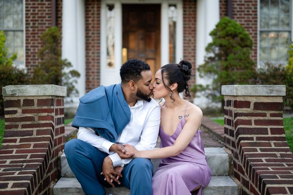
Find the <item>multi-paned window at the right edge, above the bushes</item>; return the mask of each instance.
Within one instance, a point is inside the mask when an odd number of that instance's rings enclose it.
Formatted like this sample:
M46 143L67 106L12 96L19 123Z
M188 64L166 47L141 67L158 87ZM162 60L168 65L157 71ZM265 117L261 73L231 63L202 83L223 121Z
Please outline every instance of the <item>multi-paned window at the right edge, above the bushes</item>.
M287 63L291 0L260 0L259 16L259 61Z

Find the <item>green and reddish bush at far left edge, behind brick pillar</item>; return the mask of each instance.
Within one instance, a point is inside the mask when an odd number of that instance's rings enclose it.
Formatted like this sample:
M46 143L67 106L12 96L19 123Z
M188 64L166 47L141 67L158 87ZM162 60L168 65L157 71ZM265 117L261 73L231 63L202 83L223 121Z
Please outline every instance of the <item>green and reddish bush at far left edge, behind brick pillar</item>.
M29 83L27 74L13 66L13 60L17 57L16 53L11 57L7 56L8 49L5 47L5 41L5 34L0 31L0 115L4 115L2 87Z

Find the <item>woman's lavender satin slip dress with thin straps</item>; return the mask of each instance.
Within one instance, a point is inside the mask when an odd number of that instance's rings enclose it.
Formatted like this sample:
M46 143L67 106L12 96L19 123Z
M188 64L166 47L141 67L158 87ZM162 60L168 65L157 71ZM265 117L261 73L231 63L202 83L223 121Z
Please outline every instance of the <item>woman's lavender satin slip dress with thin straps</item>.
M186 108L188 103L186 105ZM172 146L185 125L185 112L175 133L168 135L160 125L160 147ZM153 195L202 195L202 188L211 180L211 169L208 167L201 140L201 130L197 130L188 146L177 156L163 158L152 180ZM193 193L190 191L201 186Z

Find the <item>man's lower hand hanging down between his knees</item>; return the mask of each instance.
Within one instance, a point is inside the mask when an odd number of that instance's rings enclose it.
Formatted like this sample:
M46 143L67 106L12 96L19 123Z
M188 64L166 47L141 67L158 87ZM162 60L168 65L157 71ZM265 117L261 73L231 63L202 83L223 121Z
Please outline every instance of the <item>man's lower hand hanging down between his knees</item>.
M122 171L122 170L121 170ZM115 187L112 181L117 182L120 184L120 181L116 179L116 176L122 177L121 173L114 170L113 162L110 157L106 157L103 162L103 172L101 173L105 176L105 180L112 186Z

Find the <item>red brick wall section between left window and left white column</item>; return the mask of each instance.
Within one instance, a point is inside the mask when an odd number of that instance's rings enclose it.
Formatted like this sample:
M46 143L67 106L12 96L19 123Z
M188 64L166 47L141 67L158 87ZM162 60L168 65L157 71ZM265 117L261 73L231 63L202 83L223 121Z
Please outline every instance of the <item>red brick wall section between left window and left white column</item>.
M32 75L39 65L38 50L42 47L41 35L52 26L52 0L25 1L25 66ZM62 25L62 0L56 0L56 25ZM59 29L61 32L61 29Z

